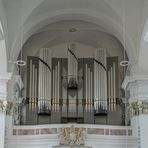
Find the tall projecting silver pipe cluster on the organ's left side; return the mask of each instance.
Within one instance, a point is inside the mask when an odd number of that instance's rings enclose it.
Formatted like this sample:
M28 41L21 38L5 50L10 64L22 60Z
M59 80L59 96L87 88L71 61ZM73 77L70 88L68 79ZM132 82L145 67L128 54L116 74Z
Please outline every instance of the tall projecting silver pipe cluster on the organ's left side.
M40 49L39 58L47 65L51 65L51 56L49 57L49 49ZM35 70L36 71L36 70ZM37 80L37 71L35 72L35 81ZM48 67L39 60L39 75L38 75L38 94L35 91L36 98L38 96L38 111L51 109L51 71ZM35 82L37 85L37 81ZM49 91L50 90L50 91Z

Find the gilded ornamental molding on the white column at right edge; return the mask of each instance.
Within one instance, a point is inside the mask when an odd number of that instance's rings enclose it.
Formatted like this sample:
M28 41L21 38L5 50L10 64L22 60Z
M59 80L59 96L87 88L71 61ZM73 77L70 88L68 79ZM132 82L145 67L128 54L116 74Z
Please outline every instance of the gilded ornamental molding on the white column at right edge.
M148 100L133 102L129 105L128 110L132 116L148 114Z

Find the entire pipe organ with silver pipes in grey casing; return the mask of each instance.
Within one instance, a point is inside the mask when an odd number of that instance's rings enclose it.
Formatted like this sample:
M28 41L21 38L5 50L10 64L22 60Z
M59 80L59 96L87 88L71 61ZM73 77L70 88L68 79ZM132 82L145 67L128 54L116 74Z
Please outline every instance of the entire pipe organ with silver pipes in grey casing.
M57 58L44 48L28 57L28 108L51 116L51 123L94 122L95 116L116 111L118 58L107 58L105 49L96 49L90 58L77 53L70 47L67 58Z

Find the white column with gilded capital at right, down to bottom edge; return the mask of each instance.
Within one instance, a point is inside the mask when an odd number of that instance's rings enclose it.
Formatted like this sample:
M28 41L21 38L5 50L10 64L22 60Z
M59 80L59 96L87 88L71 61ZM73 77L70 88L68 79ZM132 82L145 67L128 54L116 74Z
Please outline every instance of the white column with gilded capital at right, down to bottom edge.
M148 146L148 78L134 74L132 77L126 76L122 87L125 89L125 94L127 91L130 92L129 103L131 107L133 106L131 126L133 127L133 136L137 137L137 148L146 148ZM139 103L142 105L142 110L137 112L138 108L135 104ZM128 116L126 118L128 119Z

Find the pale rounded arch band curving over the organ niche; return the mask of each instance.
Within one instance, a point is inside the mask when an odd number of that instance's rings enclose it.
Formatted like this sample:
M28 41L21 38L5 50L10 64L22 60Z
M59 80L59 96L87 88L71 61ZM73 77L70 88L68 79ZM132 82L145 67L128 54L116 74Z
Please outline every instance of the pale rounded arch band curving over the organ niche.
M31 18L31 17L30 17ZM52 13L45 14L44 17L40 19L34 19L31 21L27 20L24 24L24 43L25 41L33 34L38 32L41 28L44 26L62 21L62 20L82 20L82 21L88 21L94 24L98 24L104 28L104 30L112 35L114 35L116 38L120 40L120 42L123 44L124 48L127 50L127 55L130 60L135 60L137 58L137 53L135 50L134 43L132 41L132 38L126 32L126 44L124 45L124 39L123 39L123 25L119 22L117 22L115 19L109 17L108 15L105 15L101 12L98 13L98 11L90 10L90 9L61 9L56 10ZM19 36L18 36L19 39ZM18 54L20 45L19 42L16 40L14 46L12 47L11 51L11 57L12 59L16 59Z

